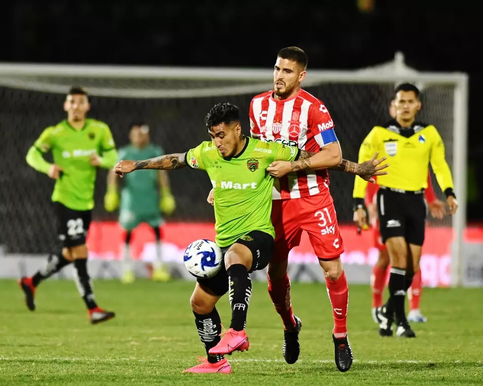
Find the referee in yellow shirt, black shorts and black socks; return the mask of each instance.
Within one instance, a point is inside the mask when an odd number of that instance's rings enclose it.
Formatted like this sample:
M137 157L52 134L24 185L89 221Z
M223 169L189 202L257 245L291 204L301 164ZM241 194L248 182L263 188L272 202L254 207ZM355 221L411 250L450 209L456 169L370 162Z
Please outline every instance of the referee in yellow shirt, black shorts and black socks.
M395 90L396 118L383 126L374 127L359 150L359 162L367 160L374 151L388 156L390 173L378 178L378 218L382 242L387 247L391 270L389 299L379 307L376 316L381 336L415 337L405 314L406 292L411 287L414 273L419 270L419 259L424 242L429 163L438 184L447 196L449 214L458 204L453 192L453 181L445 159L445 146L438 130L415 121L421 108L419 90L410 83ZM367 226L364 196L367 182L356 177L354 182L354 221Z

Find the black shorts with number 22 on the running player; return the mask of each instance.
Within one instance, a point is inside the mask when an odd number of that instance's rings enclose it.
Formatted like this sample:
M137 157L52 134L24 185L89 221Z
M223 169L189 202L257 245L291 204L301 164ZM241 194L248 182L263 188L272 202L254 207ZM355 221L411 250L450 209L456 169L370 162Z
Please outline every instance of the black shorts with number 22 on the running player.
M59 240L64 247L76 247L86 243L87 231L91 225L90 210L73 210L60 202L54 202L57 213Z

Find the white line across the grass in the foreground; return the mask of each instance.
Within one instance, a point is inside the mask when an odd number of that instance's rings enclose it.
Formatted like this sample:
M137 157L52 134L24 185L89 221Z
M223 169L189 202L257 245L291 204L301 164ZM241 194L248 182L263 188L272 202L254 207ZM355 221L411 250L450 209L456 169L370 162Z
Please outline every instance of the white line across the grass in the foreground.
M160 360L165 360L167 362L180 362L186 361L186 359L139 359L139 358L81 358L81 357L64 357L64 356L0 356L0 361L17 361L17 360L41 360L41 361L66 361L66 362L159 362ZM285 363L284 359L255 359L255 358L234 358L230 359L230 362L261 362L261 363ZM334 359L300 359L297 361L298 363L334 363ZM422 364L422 363L443 363L448 361L431 361L431 360L358 360L354 359L354 362L357 363L370 363L370 364L393 364L393 363L414 363L414 364ZM460 360L452 361L451 363L460 363ZM481 361L478 361L481 363Z

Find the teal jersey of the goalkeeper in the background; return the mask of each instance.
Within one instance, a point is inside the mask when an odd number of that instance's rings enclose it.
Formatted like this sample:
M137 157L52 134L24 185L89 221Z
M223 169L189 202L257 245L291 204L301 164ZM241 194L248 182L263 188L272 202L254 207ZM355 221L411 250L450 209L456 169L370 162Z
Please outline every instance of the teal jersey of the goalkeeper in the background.
M148 144L141 149L125 146L119 149L118 159L147 160L164 155L156 145ZM142 173L129 173L122 179L121 209L138 213L159 212L159 170L143 170Z

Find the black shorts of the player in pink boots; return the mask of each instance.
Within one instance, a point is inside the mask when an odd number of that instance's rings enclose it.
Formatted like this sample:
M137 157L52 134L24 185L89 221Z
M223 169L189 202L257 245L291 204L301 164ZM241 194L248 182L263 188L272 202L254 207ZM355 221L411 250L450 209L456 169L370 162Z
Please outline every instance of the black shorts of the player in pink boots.
M234 244L242 244L251 251L253 262L249 272L253 272L263 269L268 265L274 252L275 241L272 235L268 233L260 230L252 230L240 237ZM221 249L223 258L230 247L231 245ZM197 281L202 286L211 290L215 295L223 296L228 292L228 275L225 264L222 264L221 269L215 276L209 279L197 279Z

